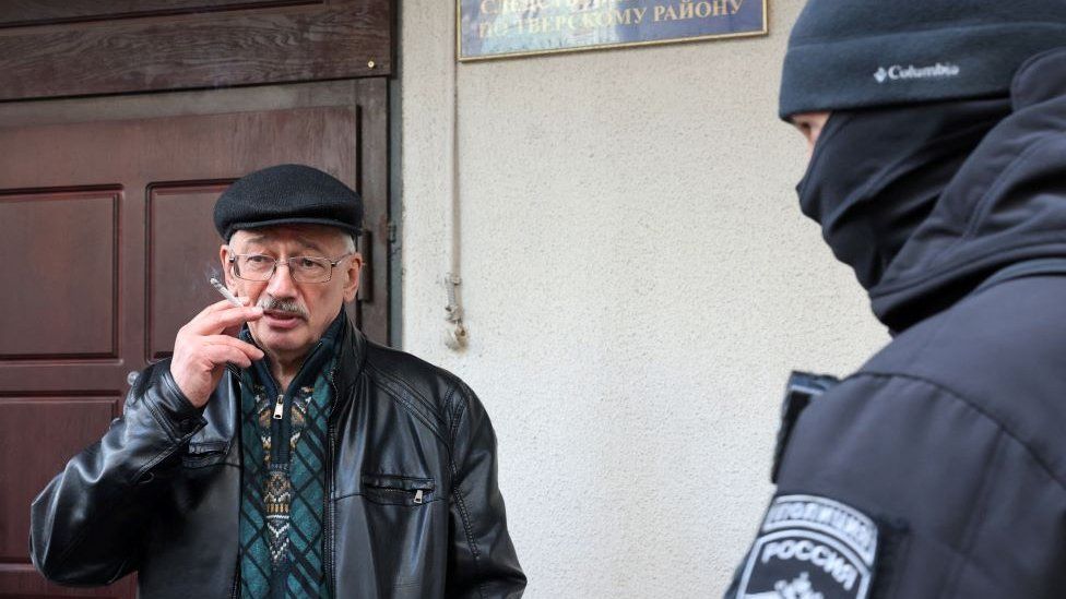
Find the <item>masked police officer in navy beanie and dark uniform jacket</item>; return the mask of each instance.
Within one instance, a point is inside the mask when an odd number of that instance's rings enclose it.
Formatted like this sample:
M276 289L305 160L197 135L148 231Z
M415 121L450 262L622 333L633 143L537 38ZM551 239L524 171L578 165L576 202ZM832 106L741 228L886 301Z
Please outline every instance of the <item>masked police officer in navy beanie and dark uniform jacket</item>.
M1066 596L1066 3L810 0L780 112L893 339L793 380L726 597Z

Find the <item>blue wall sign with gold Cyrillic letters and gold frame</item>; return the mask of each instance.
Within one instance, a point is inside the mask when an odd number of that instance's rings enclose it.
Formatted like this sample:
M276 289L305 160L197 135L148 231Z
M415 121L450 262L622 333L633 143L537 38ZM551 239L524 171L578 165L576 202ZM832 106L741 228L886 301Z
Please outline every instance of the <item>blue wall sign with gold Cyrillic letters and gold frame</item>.
M459 60L766 35L767 0L457 0Z

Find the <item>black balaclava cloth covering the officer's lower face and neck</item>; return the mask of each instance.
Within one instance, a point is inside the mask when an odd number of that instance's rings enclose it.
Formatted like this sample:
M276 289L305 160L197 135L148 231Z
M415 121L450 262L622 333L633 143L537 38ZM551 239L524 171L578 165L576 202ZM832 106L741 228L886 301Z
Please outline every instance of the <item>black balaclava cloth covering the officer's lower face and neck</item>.
M1009 113L1006 97L833 112L796 187L801 208L869 289Z

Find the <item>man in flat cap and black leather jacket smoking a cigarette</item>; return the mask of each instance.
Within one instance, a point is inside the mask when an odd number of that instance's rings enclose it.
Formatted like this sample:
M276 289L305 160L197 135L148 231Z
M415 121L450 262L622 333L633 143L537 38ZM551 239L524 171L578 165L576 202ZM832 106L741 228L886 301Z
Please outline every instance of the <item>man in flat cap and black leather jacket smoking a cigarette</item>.
M173 359L36 499L46 577L137 572L150 598L522 595L481 403L345 318L360 220L352 190L305 166L220 197L220 256L244 304L186 324Z

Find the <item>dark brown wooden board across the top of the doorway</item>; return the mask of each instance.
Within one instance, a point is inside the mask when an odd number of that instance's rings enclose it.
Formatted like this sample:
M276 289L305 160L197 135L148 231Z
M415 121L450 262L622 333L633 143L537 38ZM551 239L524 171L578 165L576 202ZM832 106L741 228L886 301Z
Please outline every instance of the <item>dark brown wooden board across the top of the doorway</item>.
M0 11L0 99L391 72L390 0L14 4Z

